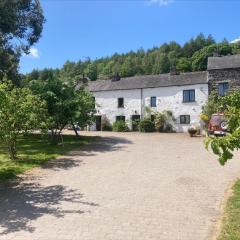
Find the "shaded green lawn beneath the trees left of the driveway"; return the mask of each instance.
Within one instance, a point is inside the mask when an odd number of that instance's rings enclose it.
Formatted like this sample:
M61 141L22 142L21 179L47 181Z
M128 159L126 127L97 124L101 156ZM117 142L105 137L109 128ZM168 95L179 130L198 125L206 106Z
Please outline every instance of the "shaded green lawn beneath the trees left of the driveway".
M22 136L17 143L18 160L9 159L6 147L0 144L0 181L15 178L18 174L40 166L50 159L57 158L77 147L88 144L93 137L64 135L63 144L50 145L46 136Z

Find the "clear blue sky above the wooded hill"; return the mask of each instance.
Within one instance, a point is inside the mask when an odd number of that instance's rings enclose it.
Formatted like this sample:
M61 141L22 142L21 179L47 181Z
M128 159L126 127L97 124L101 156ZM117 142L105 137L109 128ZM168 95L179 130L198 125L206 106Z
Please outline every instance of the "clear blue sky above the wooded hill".
M96 59L130 50L180 44L202 32L217 41L240 36L240 1L41 0L47 19L42 38L20 71L61 67L66 60Z

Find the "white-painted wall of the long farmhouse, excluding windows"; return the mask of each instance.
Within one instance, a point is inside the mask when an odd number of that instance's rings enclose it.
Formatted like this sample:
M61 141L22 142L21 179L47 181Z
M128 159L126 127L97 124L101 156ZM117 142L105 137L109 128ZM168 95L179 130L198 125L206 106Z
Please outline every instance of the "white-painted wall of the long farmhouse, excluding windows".
M183 103L183 90L195 89L195 102ZM131 116L141 115L141 89L132 90L114 90L93 92L97 115L108 118L112 124L116 116L123 115L126 118L129 127L131 127ZM124 98L124 108L118 108L118 98ZM176 130L186 132L191 124L180 124L180 115L190 115L191 122L200 123L199 114L202 106L208 98L208 85L185 85L159 88L146 88L142 90L142 113L145 115L145 106L150 106L150 98L157 97L157 107L155 111L171 110L177 119ZM91 127L94 130L94 126Z

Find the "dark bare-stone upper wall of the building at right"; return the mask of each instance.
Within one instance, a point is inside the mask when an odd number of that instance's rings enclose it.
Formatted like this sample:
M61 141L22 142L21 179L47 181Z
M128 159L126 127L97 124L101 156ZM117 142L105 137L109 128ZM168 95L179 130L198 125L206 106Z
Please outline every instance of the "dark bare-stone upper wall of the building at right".
M240 68L208 70L209 93L217 91L218 83L229 82L230 90L240 88Z

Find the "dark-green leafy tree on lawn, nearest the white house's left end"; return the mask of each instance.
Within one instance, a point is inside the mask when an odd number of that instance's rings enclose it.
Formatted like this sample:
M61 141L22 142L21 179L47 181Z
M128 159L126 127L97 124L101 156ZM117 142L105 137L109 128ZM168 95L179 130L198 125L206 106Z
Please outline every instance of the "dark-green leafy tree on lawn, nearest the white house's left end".
M83 86L76 89L56 75L47 80L30 81L28 86L47 103L53 144L58 143L67 124L85 127L92 123L95 102L92 94Z

